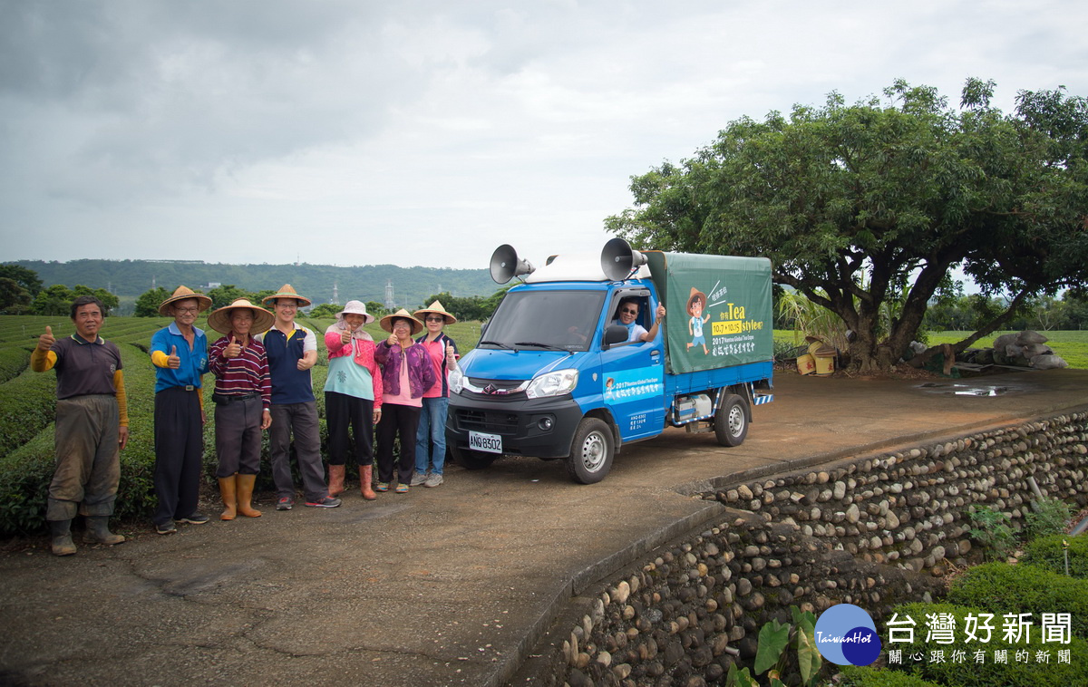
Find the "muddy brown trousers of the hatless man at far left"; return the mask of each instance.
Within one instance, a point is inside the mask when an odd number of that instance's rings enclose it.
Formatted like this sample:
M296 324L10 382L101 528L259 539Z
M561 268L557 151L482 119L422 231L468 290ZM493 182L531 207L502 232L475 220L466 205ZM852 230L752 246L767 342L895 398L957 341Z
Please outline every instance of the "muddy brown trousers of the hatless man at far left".
M118 399L75 396L57 401L57 470L46 520L112 515L121 478Z

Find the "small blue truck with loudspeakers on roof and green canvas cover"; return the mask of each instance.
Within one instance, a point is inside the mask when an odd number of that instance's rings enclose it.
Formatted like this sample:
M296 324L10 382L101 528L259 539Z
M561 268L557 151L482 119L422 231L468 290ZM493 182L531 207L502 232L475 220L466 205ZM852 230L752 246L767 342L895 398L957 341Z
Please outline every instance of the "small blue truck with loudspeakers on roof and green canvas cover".
M471 470L504 454L562 459L593 484L622 447L666 427L739 446L752 408L774 400L767 259L615 238L540 268L502 246L491 273L521 283L450 373L447 447Z

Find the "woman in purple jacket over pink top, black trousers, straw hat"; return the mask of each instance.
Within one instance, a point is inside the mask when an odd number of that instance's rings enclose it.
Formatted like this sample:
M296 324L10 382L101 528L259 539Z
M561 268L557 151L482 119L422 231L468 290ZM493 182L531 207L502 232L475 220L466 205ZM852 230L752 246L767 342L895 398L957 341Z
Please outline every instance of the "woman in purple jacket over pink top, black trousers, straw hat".
M412 340L423 323L400 309L381 321L390 338L378 345L374 360L382 366L382 419L378 423L378 486L388 491L393 482L393 441L400 437L397 494L407 494L416 467L416 429L423 394L434 386L434 366L426 349Z

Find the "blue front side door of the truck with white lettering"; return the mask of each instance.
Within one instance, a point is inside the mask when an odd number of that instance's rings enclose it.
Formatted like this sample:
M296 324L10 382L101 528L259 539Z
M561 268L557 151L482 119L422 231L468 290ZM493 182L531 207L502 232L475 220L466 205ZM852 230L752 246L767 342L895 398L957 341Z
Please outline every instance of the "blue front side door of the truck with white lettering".
M605 327L618 316L622 298L640 302L638 323L650 329L657 300L648 289L617 291L609 299ZM657 436L665 427L664 327L652 341L619 344L601 351L601 392L623 442Z

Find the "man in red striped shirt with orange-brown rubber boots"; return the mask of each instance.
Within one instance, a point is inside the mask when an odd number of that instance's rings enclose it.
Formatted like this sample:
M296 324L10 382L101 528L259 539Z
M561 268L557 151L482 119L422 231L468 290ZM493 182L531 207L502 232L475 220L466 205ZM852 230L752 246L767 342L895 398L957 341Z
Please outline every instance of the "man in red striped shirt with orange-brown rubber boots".
M215 375L215 453L219 455L220 520L236 513L260 517L252 508L261 466L261 432L272 424L272 383L264 346L251 335L267 330L275 316L239 298L208 316L224 336L212 344L209 367Z

